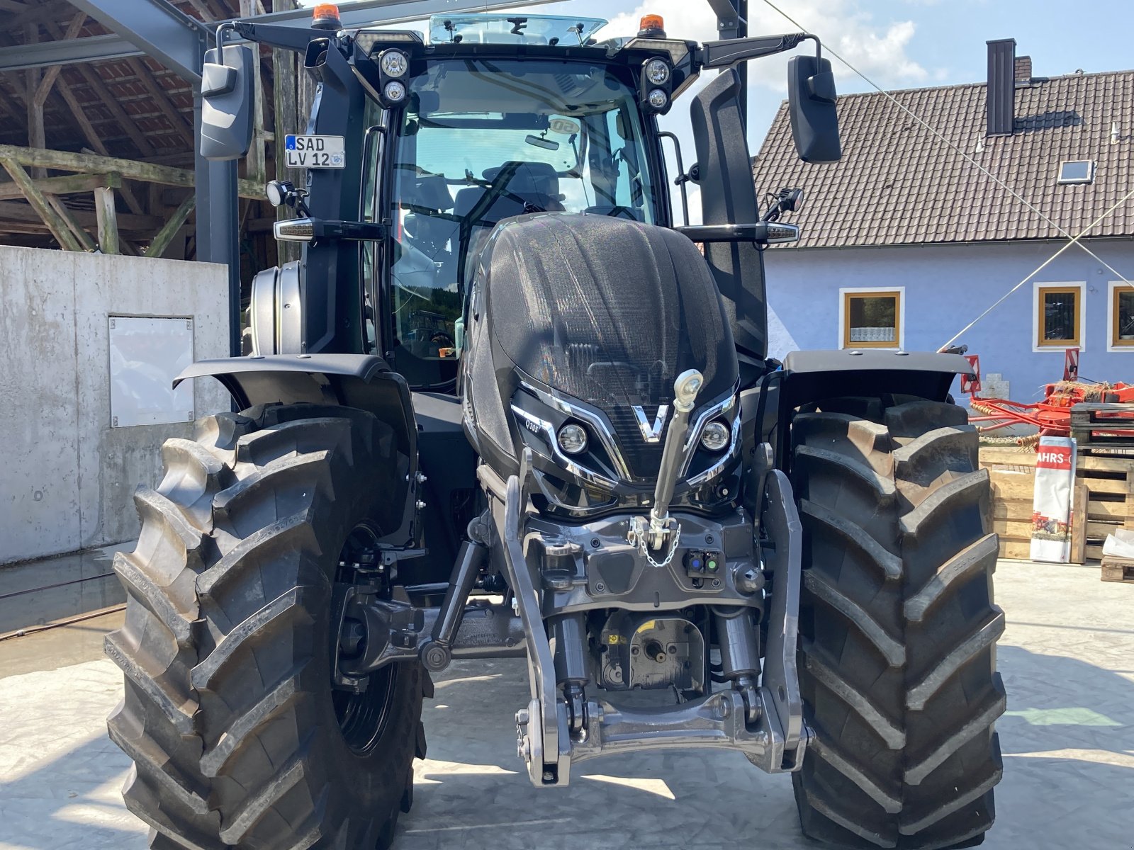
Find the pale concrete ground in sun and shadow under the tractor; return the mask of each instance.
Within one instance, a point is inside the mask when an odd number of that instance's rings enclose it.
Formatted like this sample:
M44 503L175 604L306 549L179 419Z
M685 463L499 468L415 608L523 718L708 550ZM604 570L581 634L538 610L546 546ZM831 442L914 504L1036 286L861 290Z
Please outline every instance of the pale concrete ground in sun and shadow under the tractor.
M1005 561L1008 619L997 724L1005 777L989 850L1134 848L1134 585L1098 568ZM105 738L120 674L101 658L113 614L0 641L0 848L141 850L125 810L127 759ZM49 661L50 660L50 661ZM45 669L48 666L58 669ZM465 662L425 707L430 758L397 850L815 848L792 783L736 754L644 754L578 765L533 789L516 759L522 662Z

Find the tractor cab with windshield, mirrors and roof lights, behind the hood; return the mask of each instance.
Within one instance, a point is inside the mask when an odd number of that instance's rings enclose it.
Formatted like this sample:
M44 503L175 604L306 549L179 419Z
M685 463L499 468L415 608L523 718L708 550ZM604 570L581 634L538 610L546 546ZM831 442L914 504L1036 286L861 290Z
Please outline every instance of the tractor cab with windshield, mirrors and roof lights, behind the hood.
M636 36L600 41L604 24L448 15L431 18L428 33L329 27L301 37L238 23L238 34L261 43L299 50L305 40L304 66L320 84L307 133L289 138L298 147L344 151L304 160L301 188L269 187L270 197L303 216L276 230L278 238L305 241L305 260L257 275L252 351L375 354L411 388L454 393L472 280L500 222L566 213L672 228L676 179L701 185L704 226L686 236L709 244L704 255L731 305L738 351L761 368L759 250L769 239L753 229L760 223L755 192L744 185L751 156L735 67L811 36L699 45L667 36L661 18L646 16ZM223 48L226 62L235 50ZM792 62L790 75L802 80L793 95L801 155L837 159L829 62ZM667 175L662 138L671 134L659 131L658 117L702 69L723 73L691 104L697 163L685 171L674 137L679 173ZM238 94L212 96L210 104ZM230 112L242 109L236 100ZM208 147L205 155L226 155L225 145ZM792 237L790 227L779 230ZM346 281L354 280L352 291ZM302 298L281 311L281 292Z

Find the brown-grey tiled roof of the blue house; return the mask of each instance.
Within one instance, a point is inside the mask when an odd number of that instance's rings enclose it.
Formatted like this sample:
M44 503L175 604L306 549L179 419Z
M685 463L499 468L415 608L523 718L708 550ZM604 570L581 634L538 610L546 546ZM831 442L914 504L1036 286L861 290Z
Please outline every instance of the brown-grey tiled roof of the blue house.
M1073 236L1134 189L1134 70L1017 87L1012 136L985 137L985 90L981 83L891 94ZM753 161L758 194L804 189L803 209L785 218L802 228L793 247L1060 236L886 95L840 96L838 113L841 161L810 165L796 158L786 104ZM1094 182L1057 184L1064 160L1094 160ZM1134 236L1134 198L1091 236Z

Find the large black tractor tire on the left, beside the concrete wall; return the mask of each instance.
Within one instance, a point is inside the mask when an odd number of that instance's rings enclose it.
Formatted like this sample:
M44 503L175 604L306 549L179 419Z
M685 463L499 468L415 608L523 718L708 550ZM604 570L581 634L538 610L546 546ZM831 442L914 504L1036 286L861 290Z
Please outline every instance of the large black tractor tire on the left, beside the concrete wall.
M333 689L331 597L358 529L400 512L391 432L273 405L203 419L162 453L107 638L126 674L108 726L134 760L127 807L155 848L388 847L424 756L428 679L399 664L362 695Z

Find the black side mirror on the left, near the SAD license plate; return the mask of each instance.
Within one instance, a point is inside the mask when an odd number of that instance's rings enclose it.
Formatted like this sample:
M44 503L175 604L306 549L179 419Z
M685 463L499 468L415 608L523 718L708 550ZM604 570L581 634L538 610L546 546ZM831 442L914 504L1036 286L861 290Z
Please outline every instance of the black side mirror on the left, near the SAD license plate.
M201 155L237 160L252 144L255 57L244 44L205 51L201 69Z

